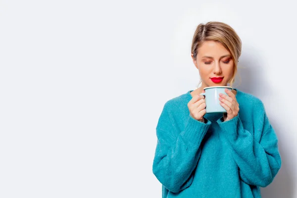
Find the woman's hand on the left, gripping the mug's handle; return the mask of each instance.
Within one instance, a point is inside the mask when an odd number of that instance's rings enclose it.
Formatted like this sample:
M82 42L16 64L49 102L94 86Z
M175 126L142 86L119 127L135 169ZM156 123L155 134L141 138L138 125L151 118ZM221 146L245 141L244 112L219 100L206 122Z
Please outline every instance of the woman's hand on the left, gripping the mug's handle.
M202 93L205 93L205 91L203 90ZM205 107L206 107L205 99L204 99L204 96L201 96L201 95L194 96L188 103L190 115L194 119L203 123L204 123L203 115L205 115L206 113Z

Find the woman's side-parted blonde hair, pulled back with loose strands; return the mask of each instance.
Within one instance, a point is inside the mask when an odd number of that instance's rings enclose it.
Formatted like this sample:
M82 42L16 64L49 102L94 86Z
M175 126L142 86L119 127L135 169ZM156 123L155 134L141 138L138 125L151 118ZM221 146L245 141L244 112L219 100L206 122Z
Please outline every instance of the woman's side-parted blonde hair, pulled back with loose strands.
M193 53L194 59L197 57L198 48L204 41L219 42L231 53L234 66L233 76L229 83L232 87L237 73L238 58L242 50L241 39L235 30L225 23L217 21L210 21L206 24L200 23L196 28L192 41L191 52Z

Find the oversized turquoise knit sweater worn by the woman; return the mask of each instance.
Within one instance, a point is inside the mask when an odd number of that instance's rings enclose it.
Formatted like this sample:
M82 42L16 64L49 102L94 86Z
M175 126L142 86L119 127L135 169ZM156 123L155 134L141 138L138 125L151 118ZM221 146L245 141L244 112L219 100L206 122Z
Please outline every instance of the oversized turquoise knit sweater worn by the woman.
M162 198L260 198L281 167L262 101L237 90L238 116L206 113L202 123L187 106L192 91L167 101L156 126L152 171Z

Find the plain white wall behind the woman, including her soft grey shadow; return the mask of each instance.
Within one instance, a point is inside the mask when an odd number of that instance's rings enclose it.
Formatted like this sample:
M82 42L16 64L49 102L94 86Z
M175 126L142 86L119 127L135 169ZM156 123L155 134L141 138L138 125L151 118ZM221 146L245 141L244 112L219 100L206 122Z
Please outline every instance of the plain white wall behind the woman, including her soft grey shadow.
M296 7L282 1L1 0L0 197L160 198L164 103L195 89L199 23L243 42L235 87L260 98L283 164L263 198L297 198Z

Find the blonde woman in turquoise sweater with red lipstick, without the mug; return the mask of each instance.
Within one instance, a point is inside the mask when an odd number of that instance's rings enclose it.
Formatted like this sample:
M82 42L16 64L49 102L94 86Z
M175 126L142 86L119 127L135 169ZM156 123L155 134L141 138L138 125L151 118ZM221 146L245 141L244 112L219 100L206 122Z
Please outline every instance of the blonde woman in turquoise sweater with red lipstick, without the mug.
M237 73L242 43L229 25L199 24L192 59L201 86L170 99L159 117L153 173L162 198L260 198L281 167L277 136L262 101L225 89L222 114L207 114L200 93L230 86Z

